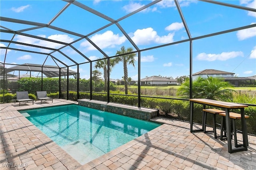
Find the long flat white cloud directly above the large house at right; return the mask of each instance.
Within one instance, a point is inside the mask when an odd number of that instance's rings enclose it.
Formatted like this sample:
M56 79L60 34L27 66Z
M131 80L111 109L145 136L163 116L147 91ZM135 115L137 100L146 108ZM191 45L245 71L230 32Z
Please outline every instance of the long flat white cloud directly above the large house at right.
M220 54L206 54L206 53L200 53L196 56L198 60L204 60L204 61L226 61L231 58L235 57L244 57L244 54L242 51L231 51L231 52L222 52Z

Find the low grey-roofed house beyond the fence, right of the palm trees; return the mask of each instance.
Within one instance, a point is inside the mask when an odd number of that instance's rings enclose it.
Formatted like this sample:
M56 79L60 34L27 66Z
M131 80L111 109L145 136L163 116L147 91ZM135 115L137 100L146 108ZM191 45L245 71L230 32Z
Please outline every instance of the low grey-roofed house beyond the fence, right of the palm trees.
M138 84L138 81L136 82L136 84ZM140 79L140 85L142 86L143 85L147 85L147 86L177 85L177 80L154 75L151 77Z

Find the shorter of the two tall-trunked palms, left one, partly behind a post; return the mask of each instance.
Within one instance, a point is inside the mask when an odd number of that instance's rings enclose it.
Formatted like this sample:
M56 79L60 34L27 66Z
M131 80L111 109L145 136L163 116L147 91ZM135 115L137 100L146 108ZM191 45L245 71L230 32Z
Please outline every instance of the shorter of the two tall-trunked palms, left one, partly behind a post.
M106 56L104 56L106 58ZM110 67L109 67L109 73L112 71L112 67L114 67L114 59L110 59ZM108 86L108 59L102 59L96 61L94 67L96 69L102 68L103 69L103 77L104 77L104 91L107 91Z

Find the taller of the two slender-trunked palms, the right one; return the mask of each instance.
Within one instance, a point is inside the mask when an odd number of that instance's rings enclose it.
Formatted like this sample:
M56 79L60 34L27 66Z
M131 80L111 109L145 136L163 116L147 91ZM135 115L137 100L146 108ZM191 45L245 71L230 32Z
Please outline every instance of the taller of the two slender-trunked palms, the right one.
M128 69L127 69L127 65L132 64L133 67L135 68L135 59L134 57L136 57L136 53L130 53L132 52L133 49L132 47L128 47L127 49L125 49L124 46L121 47L120 51L116 51L116 55L121 55L120 57L116 57L115 61L116 63L122 62L124 64L124 87L125 87L125 94L128 94ZM126 54L126 53L130 53L130 54ZM122 55L124 54L124 55Z

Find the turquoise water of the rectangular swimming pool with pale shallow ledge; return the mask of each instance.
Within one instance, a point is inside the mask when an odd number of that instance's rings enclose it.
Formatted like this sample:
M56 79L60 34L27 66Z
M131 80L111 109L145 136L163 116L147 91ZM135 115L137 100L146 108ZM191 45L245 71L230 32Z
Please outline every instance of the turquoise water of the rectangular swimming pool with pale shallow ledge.
M80 164L160 126L80 105L30 109L20 113Z

